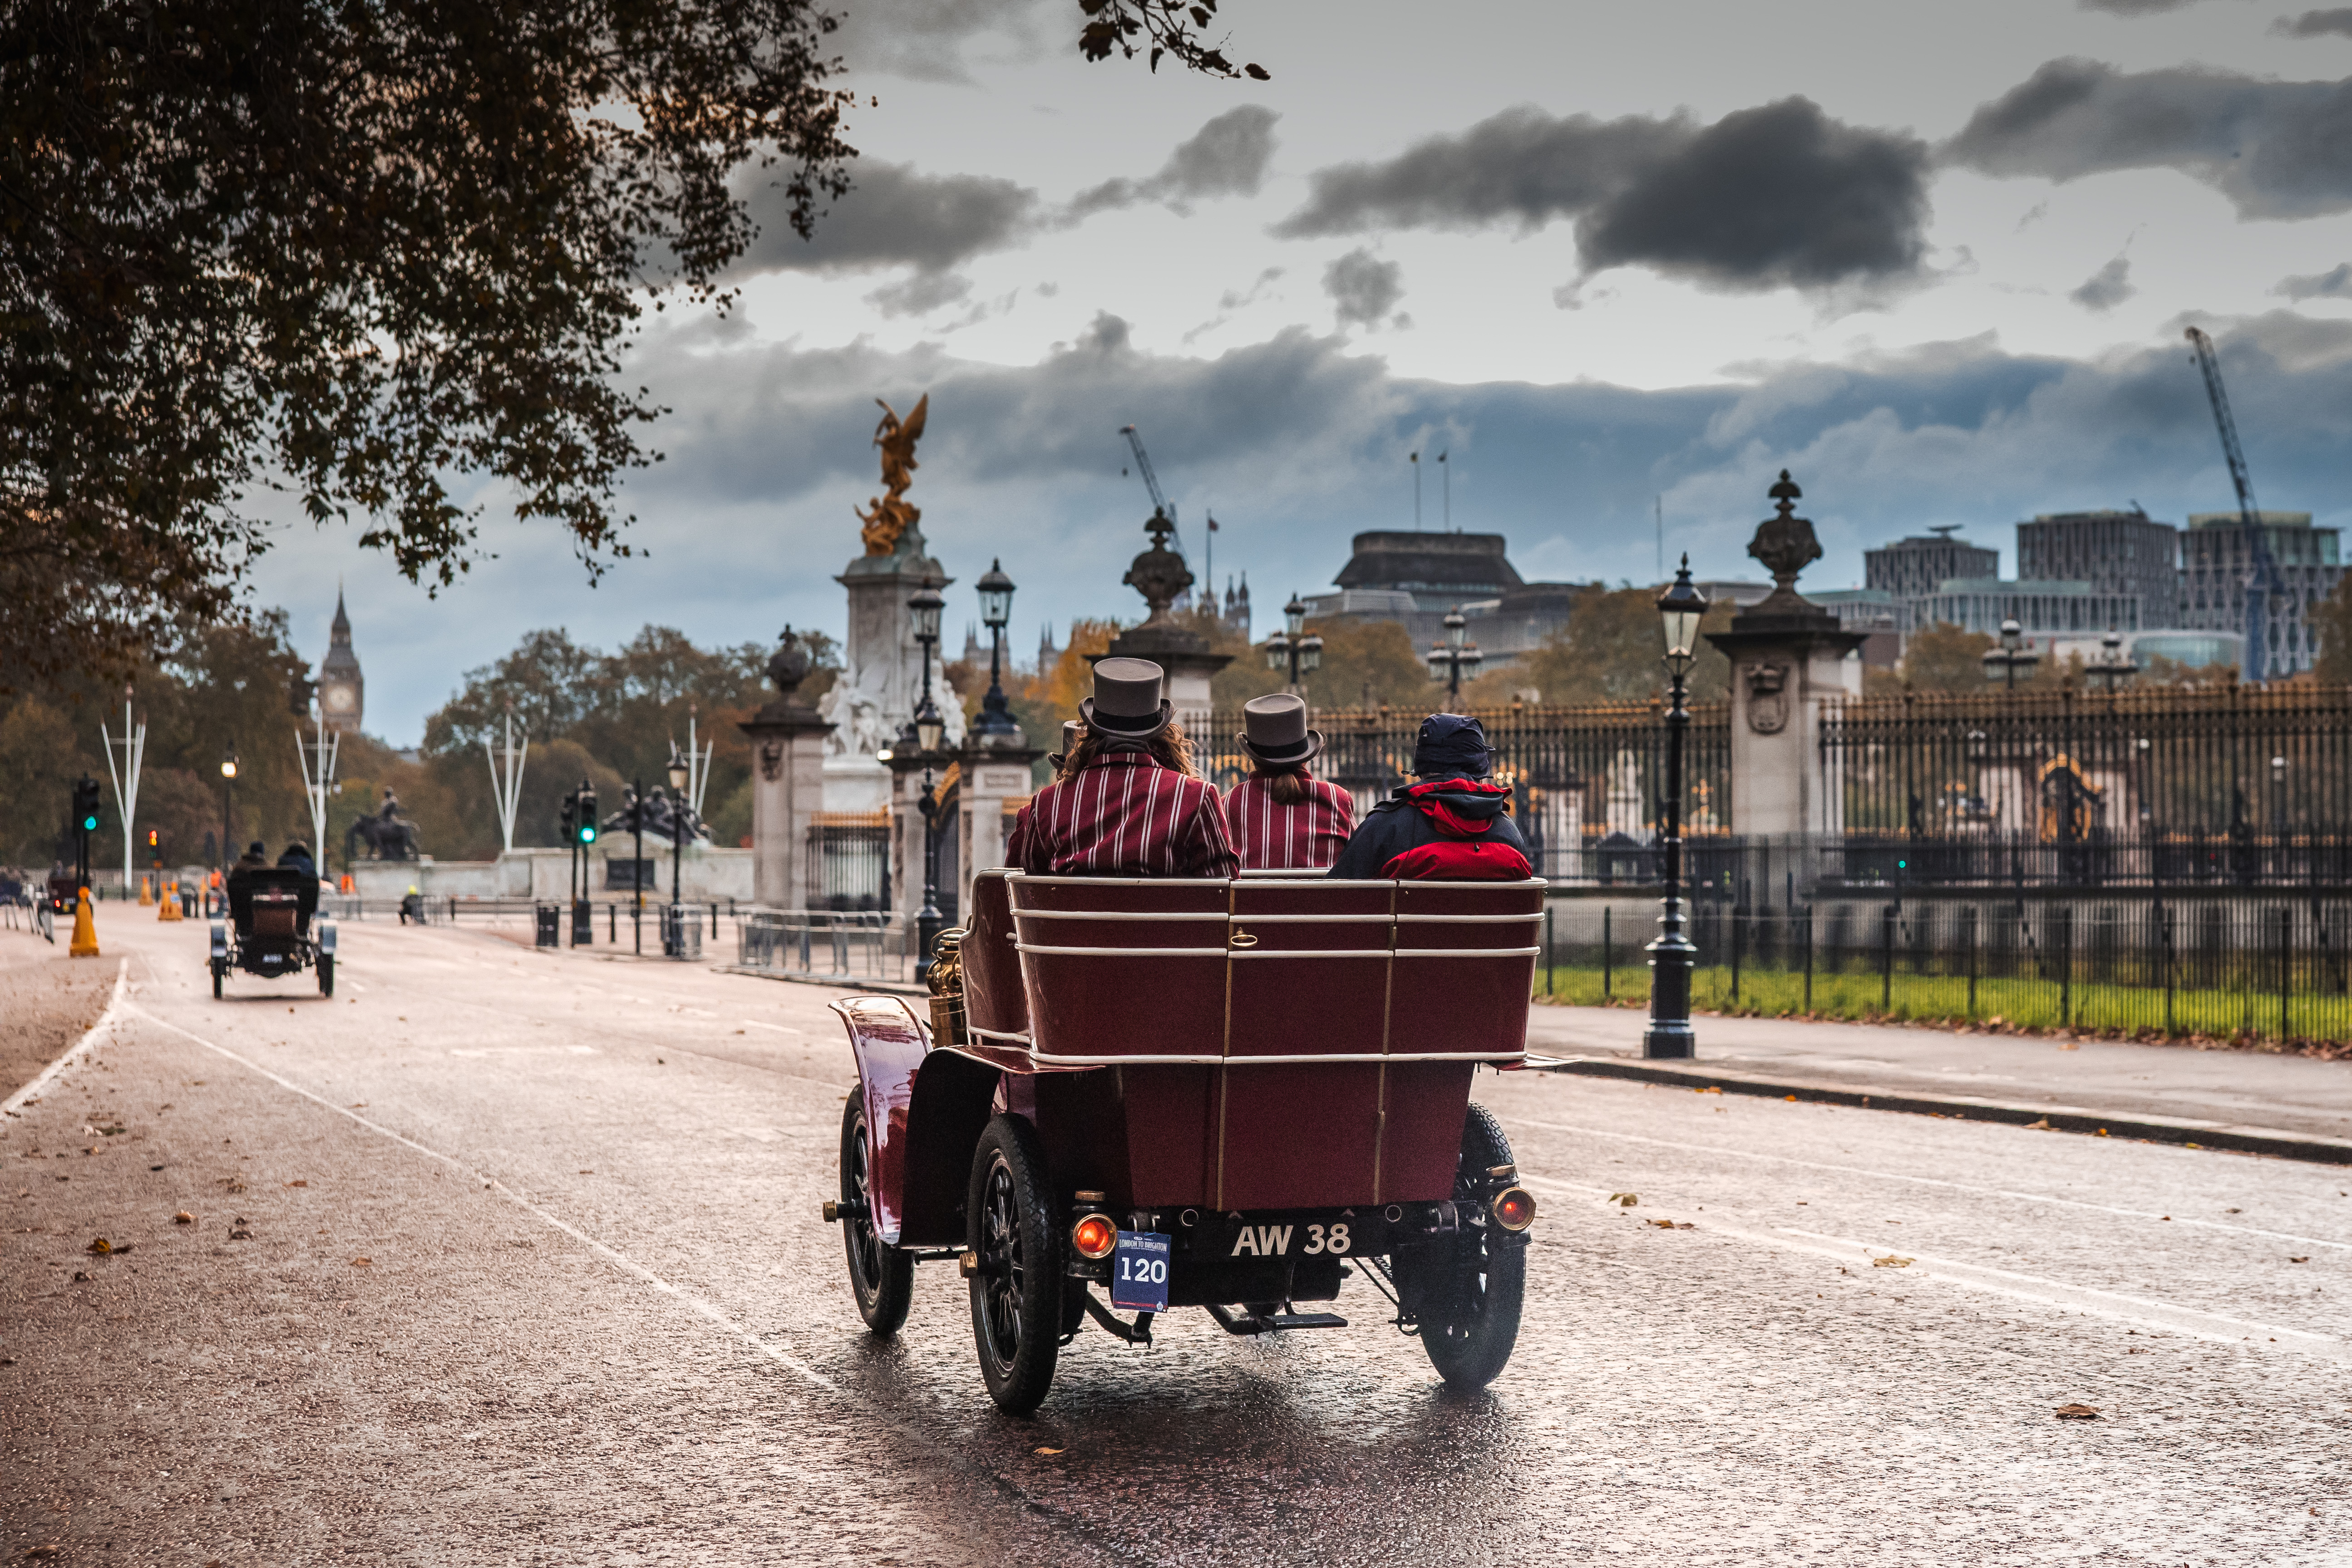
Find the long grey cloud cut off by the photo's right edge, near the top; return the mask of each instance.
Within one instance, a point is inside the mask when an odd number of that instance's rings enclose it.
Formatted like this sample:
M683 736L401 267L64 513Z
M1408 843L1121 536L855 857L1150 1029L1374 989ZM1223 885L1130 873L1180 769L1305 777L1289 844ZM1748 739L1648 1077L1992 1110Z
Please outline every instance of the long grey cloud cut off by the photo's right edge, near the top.
M2241 216L2307 219L2352 209L2352 82L2126 75L2058 59L1978 108L1943 155L2046 179L2169 167L2216 186Z

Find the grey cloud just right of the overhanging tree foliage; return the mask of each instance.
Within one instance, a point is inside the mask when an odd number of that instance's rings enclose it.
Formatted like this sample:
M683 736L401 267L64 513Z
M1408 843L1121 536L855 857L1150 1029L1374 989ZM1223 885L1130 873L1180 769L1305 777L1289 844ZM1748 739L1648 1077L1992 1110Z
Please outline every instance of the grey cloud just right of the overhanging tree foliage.
M922 174L913 165L858 160L856 188L816 219L802 240L786 219L769 172L746 172L736 195L750 202L760 237L739 273L856 273L913 266L946 273L983 252L1028 237L1037 193L985 174Z

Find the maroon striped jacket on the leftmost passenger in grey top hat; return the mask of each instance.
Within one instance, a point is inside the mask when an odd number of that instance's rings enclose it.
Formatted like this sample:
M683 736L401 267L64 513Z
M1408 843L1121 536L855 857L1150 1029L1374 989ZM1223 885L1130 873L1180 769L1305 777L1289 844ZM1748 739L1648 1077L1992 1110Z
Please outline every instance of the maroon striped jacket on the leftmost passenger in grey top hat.
M1230 877L1232 839L1216 785L1143 752L1096 757L1037 790L1021 870L1058 877Z

